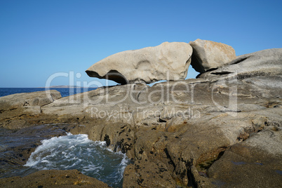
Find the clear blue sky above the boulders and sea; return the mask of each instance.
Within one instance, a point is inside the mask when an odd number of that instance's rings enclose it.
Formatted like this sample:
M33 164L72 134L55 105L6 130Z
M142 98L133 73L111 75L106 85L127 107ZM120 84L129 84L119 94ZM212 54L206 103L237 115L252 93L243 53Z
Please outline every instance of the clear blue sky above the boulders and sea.
M0 0L0 87L98 81L85 73L93 63L164 41L217 41L236 55L282 48L281 10L281 0Z

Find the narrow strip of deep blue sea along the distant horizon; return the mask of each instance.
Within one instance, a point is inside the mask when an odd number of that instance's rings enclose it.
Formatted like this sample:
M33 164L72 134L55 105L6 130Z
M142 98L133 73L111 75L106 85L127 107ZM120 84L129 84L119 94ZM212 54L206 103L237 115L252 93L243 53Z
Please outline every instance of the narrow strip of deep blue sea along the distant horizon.
M86 92L88 90L95 90L96 88L0 88L0 97L12 95L15 93L31 93L41 90L58 90L62 98L76 93Z

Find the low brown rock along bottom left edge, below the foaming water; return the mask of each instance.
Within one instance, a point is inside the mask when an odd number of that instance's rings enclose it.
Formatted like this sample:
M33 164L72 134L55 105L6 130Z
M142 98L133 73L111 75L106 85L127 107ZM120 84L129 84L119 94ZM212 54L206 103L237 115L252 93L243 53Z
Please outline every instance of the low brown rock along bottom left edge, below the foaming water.
M25 177L0 179L0 187L109 187L78 170L41 170Z

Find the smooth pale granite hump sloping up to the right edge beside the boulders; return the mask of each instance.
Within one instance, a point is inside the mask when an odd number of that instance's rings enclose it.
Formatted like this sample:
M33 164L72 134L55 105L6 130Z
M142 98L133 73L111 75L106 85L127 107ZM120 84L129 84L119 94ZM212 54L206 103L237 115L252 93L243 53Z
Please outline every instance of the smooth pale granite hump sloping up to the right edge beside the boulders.
M273 48L246 55L240 55L227 65L211 69L210 71L199 75L199 78L217 80L246 79L254 76L281 74L282 48Z

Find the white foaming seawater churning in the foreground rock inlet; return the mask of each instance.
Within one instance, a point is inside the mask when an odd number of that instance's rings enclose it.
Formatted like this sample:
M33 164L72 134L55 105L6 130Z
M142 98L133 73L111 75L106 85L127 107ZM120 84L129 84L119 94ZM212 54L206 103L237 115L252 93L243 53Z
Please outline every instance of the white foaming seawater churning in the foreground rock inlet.
M37 170L77 169L112 187L121 187L123 171L129 160L126 154L107 149L106 142L93 142L88 135L71 133L41 142L25 166Z

